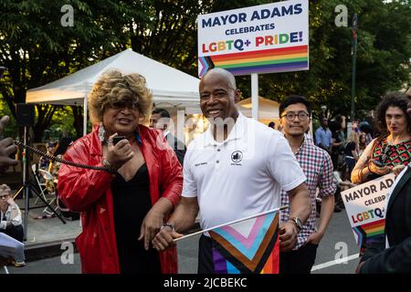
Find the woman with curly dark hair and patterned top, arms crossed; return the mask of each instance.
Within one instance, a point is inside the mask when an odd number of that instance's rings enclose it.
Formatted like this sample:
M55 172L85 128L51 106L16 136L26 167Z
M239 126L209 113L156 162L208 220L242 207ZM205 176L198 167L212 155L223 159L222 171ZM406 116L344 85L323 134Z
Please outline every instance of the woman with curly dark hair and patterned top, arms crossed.
M353 183L365 183L388 172L397 175L411 162L411 118L408 99L386 95L376 109L376 125L382 135L368 144L351 174Z

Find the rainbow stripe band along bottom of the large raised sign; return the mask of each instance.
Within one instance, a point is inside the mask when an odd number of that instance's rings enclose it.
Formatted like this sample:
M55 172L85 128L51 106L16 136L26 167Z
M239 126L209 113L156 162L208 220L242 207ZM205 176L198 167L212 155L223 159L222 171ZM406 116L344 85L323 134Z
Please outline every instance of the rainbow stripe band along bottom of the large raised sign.
M308 70L308 56L308 46L296 46L200 57L200 77L210 68L225 68L234 75Z

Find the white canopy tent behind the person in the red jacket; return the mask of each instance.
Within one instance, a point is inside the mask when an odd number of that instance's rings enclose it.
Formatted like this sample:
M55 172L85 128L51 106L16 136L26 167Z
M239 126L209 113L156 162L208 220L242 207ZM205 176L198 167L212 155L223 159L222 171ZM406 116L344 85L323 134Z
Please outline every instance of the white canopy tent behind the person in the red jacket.
M93 84L108 69L119 69L125 74L140 73L153 92L156 107L177 107L195 110L199 106L200 80L175 68L144 57L131 48L108 57L68 77L58 79L36 89L27 90L27 103L84 106L83 132L87 132L87 97Z

